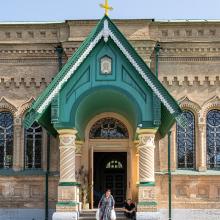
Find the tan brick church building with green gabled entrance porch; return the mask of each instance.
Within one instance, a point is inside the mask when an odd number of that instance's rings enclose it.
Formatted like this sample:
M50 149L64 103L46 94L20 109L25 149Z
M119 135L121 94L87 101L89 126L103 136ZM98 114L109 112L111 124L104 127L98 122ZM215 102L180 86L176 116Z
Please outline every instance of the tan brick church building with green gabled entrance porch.
M106 189L137 220L218 219L219 37L220 21L0 23L0 219L78 220Z

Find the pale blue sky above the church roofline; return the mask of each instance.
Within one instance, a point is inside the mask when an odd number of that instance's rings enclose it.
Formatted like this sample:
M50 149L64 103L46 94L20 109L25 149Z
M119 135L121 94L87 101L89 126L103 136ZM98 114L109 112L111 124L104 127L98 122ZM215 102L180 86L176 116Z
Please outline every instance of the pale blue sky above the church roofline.
M0 21L99 19L104 0L2 0ZM220 19L220 0L109 0L111 18Z

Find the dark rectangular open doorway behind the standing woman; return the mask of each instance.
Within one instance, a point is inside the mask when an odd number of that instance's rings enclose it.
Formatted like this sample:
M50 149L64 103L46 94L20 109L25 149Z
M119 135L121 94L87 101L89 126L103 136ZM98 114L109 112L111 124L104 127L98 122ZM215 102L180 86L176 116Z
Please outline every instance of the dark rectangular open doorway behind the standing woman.
M127 190L127 153L94 152L94 207L106 189L111 189L116 207L123 207Z

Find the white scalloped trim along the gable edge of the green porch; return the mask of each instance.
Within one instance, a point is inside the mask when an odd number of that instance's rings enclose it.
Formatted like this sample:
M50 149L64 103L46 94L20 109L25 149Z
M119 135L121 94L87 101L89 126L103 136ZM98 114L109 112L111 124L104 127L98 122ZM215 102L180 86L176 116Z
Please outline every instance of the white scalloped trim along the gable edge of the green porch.
M129 62L134 66L134 68L137 70L137 72L142 76L142 78L145 80L145 82L150 86L150 88L153 90L153 92L158 96L160 101L166 106L166 108L169 110L171 114L173 114L175 111L172 108L172 106L166 101L166 99L163 97L163 95L160 93L159 90L155 87L153 82L148 78L148 76L145 74L145 72L142 70L142 68L137 64L137 62L133 59L133 57L129 54L129 52L125 49L125 47L122 45L122 43L118 40L118 38L113 34L113 32L108 27L108 21L104 21L104 28L101 30L101 32L96 36L96 38L90 43L90 45L87 47L87 49L84 51L84 53L81 55L81 57L76 61L76 63L72 66L72 68L67 72L67 74L64 76L64 78L59 82L57 87L51 92L51 94L46 98L46 100L43 102L43 104L37 109L38 113L42 113L43 110L50 104L52 99L56 96L56 94L59 93L61 90L63 84L67 82L67 80L72 76L72 74L77 70L77 68L80 66L80 64L86 59L86 57L89 55L89 53L92 51L92 49L96 46L96 44L101 40L102 37L104 37L104 40L107 41L108 37L111 37L112 40L116 43L116 45L119 47L119 49L123 52L123 54L126 56L126 58L129 60Z

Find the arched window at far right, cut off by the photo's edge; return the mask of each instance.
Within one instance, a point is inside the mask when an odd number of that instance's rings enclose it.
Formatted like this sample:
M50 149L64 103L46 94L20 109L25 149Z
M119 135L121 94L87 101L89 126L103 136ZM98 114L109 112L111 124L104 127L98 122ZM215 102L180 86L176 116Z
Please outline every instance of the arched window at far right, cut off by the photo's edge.
M207 167L220 168L220 110L211 110L206 118Z

